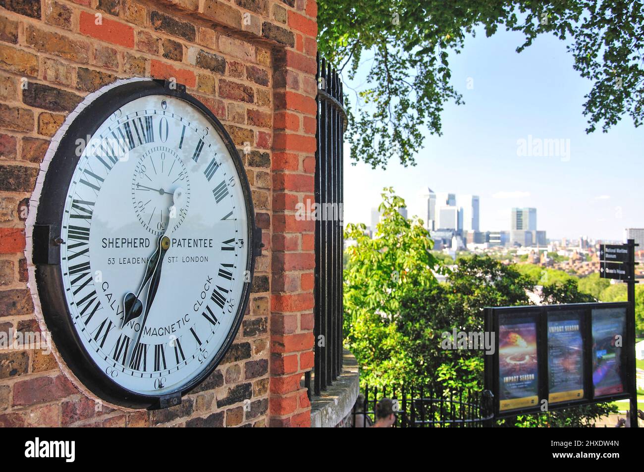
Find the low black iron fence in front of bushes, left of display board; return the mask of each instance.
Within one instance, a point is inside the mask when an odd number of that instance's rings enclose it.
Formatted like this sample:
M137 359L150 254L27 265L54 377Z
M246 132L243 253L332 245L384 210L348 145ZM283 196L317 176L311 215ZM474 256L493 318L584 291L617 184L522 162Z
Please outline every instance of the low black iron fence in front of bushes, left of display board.
M430 388L364 388L352 413L352 428L375 423L377 402L393 400L396 428L481 428L492 426L493 398L489 390L434 390Z

